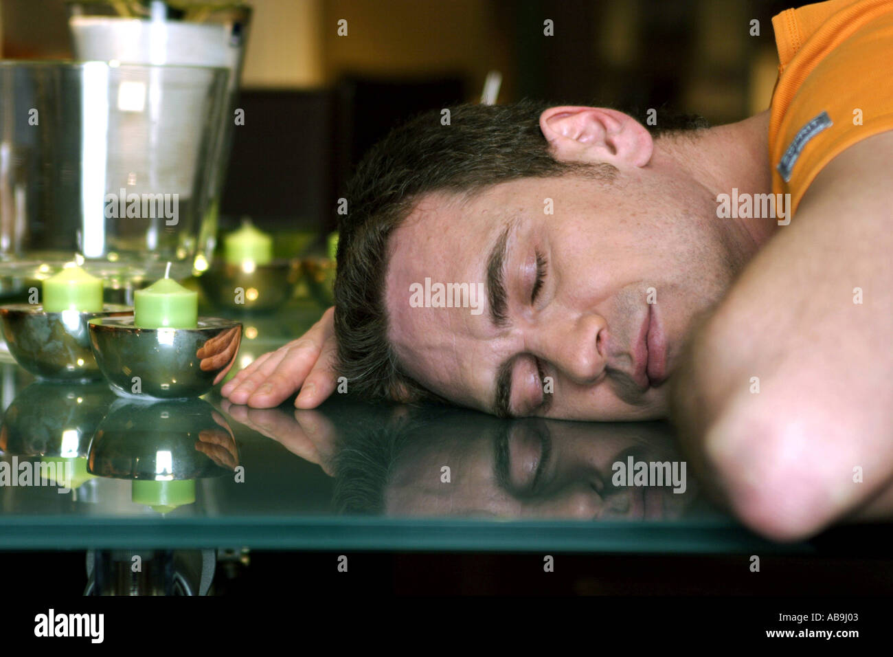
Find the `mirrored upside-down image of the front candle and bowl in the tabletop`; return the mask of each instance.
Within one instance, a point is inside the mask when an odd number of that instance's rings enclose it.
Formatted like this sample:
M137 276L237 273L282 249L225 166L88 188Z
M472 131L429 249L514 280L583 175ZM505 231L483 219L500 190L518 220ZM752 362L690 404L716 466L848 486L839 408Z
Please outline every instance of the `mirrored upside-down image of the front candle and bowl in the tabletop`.
M131 499L166 513L196 501L196 479L238 466L226 421L204 400L118 400L90 442L88 473L133 481Z

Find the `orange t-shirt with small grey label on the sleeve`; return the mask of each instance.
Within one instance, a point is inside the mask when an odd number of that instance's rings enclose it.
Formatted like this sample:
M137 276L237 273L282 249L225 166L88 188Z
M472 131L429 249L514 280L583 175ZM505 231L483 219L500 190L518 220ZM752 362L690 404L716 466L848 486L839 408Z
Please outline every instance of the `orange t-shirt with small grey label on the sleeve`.
M893 0L808 4L778 14L772 27L780 62L772 191L790 194L793 213L834 156L893 130Z

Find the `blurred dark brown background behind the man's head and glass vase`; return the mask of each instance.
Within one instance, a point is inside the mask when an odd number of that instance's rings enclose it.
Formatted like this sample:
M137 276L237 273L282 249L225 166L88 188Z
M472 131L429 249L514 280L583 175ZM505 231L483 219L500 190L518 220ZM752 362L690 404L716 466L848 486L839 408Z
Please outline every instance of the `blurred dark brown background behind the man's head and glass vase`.
M364 150L407 116L477 101L491 70L499 103L739 120L769 104L772 15L791 2L254 0L221 229L252 215L271 230L333 230ZM2 56L71 58L67 20L63 0L2 0Z

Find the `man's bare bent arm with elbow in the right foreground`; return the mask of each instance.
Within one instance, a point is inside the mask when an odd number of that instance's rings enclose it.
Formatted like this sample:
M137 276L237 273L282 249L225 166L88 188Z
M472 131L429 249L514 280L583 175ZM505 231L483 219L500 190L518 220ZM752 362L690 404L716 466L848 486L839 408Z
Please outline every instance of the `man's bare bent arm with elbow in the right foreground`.
M673 382L705 483L775 539L893 512L890 162L886 132L825 167Z

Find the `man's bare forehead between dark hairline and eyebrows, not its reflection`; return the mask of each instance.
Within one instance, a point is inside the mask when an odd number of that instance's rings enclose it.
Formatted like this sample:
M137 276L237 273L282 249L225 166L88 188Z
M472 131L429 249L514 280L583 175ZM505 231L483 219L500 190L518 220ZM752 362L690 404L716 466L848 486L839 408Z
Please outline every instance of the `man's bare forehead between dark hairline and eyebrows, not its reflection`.
M482 408L480 391L490 385L486 345L496 337L486 293L475 297L480 314L472 315L470 307L413 307L411 290L429 279L430 285L467 283L470 290L486 291L489 250L505 224L523 212L517 200L506 202L500 187L470 198L421 199L389 244L388 339L397 358L427 387L475 408Z

